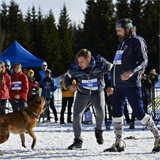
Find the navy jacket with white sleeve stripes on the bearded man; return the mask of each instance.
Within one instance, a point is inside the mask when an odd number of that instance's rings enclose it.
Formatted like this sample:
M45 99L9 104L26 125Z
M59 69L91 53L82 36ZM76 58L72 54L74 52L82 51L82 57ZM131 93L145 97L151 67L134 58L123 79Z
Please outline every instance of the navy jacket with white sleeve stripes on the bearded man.
M116 56L114 58L111 71L112 86L116 88L140 87L141 72L148 64L148 50L145 40L137 35L129 37L125 42L119 43L117 51L124 52L122 53L121 64L115 64ZM129 70L132 70L134 75L127 81L122 81L121 74Z

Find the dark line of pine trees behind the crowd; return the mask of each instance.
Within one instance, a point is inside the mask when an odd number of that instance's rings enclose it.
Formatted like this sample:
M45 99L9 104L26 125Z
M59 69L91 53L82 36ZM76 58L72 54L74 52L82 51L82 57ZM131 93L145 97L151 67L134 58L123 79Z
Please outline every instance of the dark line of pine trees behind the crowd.
M115 24L118 19L131 18L148 46L149 65L160 73L160 0L86 0L84 20L71 22L65 4L58 23L52 10L42 15L35 6L25 15L16 1L2 2L0 9L0 54L14 40L38 58L47 61L54 76L61 75L82 48L98 53L112 62L118 45ZM23 56L23 55L22 55Z

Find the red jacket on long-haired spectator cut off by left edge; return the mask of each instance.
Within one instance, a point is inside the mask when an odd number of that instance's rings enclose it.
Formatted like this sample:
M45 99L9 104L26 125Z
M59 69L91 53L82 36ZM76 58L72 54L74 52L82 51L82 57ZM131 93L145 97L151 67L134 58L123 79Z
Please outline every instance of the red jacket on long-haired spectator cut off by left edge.
M0 83L0 99L9 99L9 90L12 86L11 78L7 74L7 72L4 72L4 83Z

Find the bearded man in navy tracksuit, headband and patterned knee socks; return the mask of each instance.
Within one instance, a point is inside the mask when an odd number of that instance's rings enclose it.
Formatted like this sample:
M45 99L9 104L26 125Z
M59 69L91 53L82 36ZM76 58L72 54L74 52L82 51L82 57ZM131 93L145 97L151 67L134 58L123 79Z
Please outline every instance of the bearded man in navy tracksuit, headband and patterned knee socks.
M155 144L152 151L159 152L160 132L152 118L143 109L141 72L148 64L146 42L142 37L136 35L132 20L128 18L117 21L116 31L120 43L113 60L111 71L113 88L107 88L108 95L113 93L112 116L116 142L104 151L124 151L122 140L123 111L127 98L135 117L151 130L155 137Z

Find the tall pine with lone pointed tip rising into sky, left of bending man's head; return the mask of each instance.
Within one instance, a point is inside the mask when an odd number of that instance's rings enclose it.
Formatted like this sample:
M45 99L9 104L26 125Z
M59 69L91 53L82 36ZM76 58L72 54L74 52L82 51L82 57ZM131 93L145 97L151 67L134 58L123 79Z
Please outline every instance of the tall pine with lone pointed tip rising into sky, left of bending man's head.
M74 58L73 54L73 37L72 37L72 26L70 19L67 14L66 6L60 12L59 23L59 43L60 43L60 54L61 63L63 65L63 71L66 71Z

